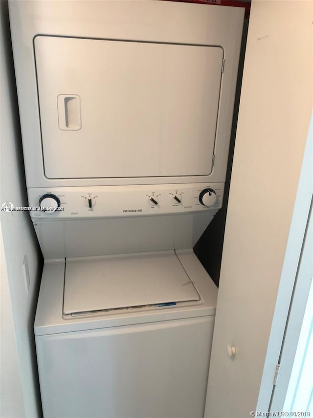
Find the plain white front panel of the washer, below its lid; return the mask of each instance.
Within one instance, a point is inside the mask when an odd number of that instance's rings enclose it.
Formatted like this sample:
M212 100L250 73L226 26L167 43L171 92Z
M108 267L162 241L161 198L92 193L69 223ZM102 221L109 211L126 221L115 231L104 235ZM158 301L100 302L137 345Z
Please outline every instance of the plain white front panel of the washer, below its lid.
M203 418L214 316L36 337L45 418Z

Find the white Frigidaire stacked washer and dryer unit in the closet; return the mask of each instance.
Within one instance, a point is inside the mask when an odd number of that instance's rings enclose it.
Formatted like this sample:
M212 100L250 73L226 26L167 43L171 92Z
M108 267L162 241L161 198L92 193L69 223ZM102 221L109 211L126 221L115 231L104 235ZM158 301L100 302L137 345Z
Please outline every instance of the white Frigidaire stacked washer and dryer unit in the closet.
M12 1L45 418L203 418L244 10Z

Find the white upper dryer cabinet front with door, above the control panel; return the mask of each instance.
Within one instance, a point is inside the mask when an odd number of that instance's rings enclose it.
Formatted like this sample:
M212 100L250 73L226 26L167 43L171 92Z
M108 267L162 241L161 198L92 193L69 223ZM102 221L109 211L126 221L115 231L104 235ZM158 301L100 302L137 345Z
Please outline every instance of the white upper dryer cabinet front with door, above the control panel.
M28 188L224 182L244 9L11 1Z

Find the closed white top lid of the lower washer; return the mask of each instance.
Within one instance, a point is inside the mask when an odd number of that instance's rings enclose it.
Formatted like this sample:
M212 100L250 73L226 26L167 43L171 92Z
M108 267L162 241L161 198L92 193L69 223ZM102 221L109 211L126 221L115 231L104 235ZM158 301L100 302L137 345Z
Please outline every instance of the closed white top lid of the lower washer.
M65 315L199 300L174 251L66 261Z

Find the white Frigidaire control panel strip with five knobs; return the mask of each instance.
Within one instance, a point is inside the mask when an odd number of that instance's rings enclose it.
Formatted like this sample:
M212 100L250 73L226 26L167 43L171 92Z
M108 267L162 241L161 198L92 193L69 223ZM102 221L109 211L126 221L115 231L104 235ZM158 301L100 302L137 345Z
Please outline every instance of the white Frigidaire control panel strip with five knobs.
M224 183L28 189L33 219L116 218L217 212Z

